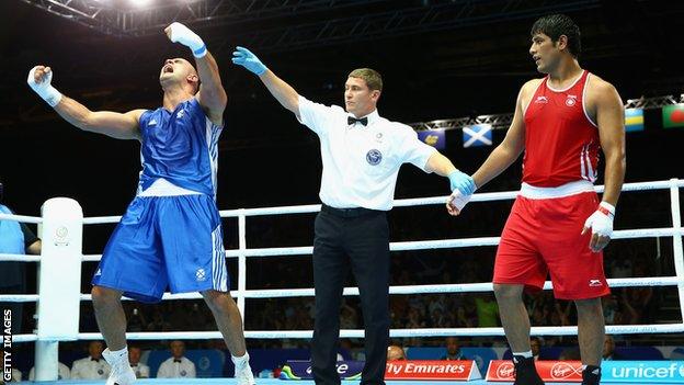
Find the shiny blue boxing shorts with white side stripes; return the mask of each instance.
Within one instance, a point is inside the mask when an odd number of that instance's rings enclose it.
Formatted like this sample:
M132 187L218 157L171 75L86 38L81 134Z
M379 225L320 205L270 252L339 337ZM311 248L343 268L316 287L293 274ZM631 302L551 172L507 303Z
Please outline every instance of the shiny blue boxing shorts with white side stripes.
M223 230L205 194L136 196L107 242L93 285L145 303L171 293L227 292Z

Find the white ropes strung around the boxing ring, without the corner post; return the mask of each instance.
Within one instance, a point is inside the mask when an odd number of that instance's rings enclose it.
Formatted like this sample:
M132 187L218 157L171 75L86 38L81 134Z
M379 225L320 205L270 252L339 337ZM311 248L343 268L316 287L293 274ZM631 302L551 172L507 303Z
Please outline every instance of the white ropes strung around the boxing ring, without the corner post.
M671 208L673 216L673 227L665 228L646 228L646 229L627 229L616 230L613 233L613 239L631 239L631 238L651 238L651 237L674 237L674 259L675 265L683 262L681 237L684 236L684 228L681 227L679 213L679 189L684 188L684 180L670 180L657 182L627 183L623 185L623 191L643 191L643 190L670 190ZM603 192L603 186L596 186L596 192ZM472 196L472 202L489 202L500 200L511 200L517 196L517 191L478 193ZM395 206L417 206L444 204L446 196L434 196L424 199L408 199L395 201ZM677 200L677 202L674 202ZM227 258L239 258L240 268L244 269L244 261L248 257L275 257L275 256L307 256L312 253L312 247L287 247L287 248L261 248L247 249L244 246L244 219L248 216L261 215L283 215L283 214L304 214L316 213L320 210L319 204L298 205L298 206L281 206L281 207L262 207L262 208L239 208L220 211L221 217L237 217L239 219L240 248L227 250ZM676 211L676 213L675 213ZM0 214L1 219L12 219L24 223L41 224L43 218ZM117 223L121 216L102 216L83 218L83 225ZM421 241L401 241L391 242L391 251L403 250L422 250L422 249L444 249L444 248L464 248L464 247L481 247L497 246L500 237L476 237L463 239L440 239L440 240L421 240ZM680 245L680 246L677 246ZM83 262L94 262L101 259L101 254L83 256ZM20 256L0 253L0 262L19 261L19 262L39 262L41 257ZM683 273L676 270L677 275ZM231 292L239 301L244 298L281 298L281 297L300 297L314 296L314 288L278 288L278 290L246 290L244 275L240 273L238 291ZM684 290L684 280L680 276L660 276L660 278L629 278L629 279L611 279L607 280L611 287L632 287L632 286L677 286L680 293ZM544 290L551 290L552 284L547 281ZM394 295L407 294L429 294L429 293L472 293L472 292L492 292L491 282L482 283L465 283L465 284L431 284L431 285L410 285L410 286L391 286L389 293ZM358 295L357 287L345 287L344 295ZM81 294L81 301L91 301L90 294ZM198 293L170 294L166 293L162 299L200 299ZM9 294L0 295L1 302L36 302L39 296L36 294ZM682 303L682 298L680 298ZM660 324L660 325L608 325L606 326L608 333L672 333L684 332L684 322L681 324ZM340 336L343 338L363 337L363 330L341 330ZM535 336L572 336L577 335L577 327L532 327L532 335ZM246 330L247 338L311 338L311 330ZM392 329L390 336L396 338L407 337L447 337L447 336L504 336L502 328L447 328L447 329ZM101 339L100 333L79 333L78 339L93 340ZM172 332L132 332L127 333L127 338L132 340L157 340L157 339L221 339L218 331L172 331ZM13 336L14 342L37 341L37 335L16 335Z

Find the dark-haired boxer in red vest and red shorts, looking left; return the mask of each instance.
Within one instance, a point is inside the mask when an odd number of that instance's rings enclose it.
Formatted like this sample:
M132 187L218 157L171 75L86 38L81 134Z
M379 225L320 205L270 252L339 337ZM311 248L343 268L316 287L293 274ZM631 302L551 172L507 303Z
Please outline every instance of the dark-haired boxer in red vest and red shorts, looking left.
M625 177L624 107L607 81L582 69L579 27L566 15L540 18L531 31L529 55L542 79L526 82L505 139L472 174L482 186L524 151L523 183L506 222L494 263L494 294L513 351L515 385L544 384L529 347L523 291L542 290L547 274L557 298L574 301L583 385L598 384L605 333L601 297L609 293L603 248L611 240L615 205ZM605 192L593 182L605 156ZM469 196L455 192L457 215Z

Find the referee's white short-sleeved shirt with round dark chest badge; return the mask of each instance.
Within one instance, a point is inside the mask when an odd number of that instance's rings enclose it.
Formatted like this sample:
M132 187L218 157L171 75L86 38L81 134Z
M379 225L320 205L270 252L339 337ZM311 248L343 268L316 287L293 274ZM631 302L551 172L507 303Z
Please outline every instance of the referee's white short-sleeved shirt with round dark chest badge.
M321 144L323 174L320 200L337 208L392 207L397 175L402 163L425 170L436 151L418 139L408 125L368 114L368 124L347 124L338 105L327 106L299 97L299 122L311 128Z

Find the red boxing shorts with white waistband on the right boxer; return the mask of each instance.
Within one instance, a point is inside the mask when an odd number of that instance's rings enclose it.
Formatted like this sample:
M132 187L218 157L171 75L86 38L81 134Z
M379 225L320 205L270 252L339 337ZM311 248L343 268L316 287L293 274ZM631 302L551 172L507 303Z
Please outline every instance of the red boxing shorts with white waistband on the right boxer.
M525 186L501 235L493 283L524 284L527 292L537 292L550 273L556 298L589 299L609 294L603 251L589 248L591 229L581 235L584 222L598 207L596 193L531 199L524 191Z

